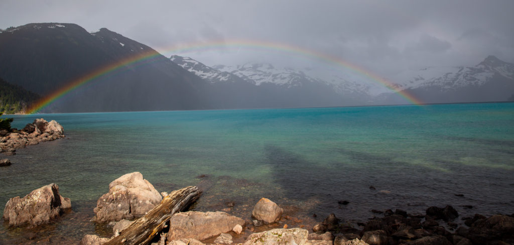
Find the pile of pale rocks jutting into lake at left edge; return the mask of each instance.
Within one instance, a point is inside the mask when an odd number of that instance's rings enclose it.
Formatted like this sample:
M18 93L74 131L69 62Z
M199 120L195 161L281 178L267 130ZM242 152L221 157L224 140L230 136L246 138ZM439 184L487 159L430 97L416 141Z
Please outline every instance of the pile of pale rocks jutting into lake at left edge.
M0 130L0 153L14 155L17 148L64 137L63 126L55 120L47 122L42 118L35 119L21 130Z

